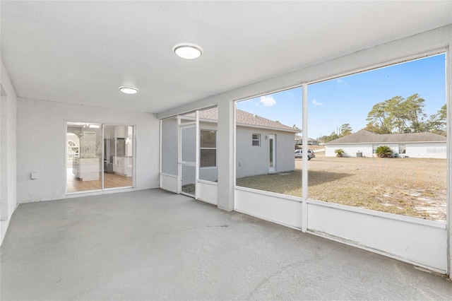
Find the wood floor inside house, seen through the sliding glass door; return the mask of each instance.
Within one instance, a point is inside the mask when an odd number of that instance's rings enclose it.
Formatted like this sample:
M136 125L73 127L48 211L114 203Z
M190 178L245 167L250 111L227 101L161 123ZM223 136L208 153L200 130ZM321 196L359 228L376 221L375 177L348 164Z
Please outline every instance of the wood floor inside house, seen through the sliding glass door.
M102 172L100 172L99 179L93 181L82 181L81 179L74 177L72 168L68 168L67 175L67 192L102 189ZM104 189L131 186L132 177L124 177L114 173L104 172Z

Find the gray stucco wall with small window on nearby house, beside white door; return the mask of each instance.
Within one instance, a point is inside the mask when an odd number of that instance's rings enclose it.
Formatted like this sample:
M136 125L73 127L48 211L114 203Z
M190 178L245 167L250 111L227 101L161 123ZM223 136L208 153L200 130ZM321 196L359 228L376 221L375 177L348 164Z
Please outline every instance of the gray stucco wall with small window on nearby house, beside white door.
M261 135L261 145L253 146L253 134ZM276 135L275 172L295 170L294 135L284 131L237 126L236 177L262 175L269 172L269 134ZM267 138L266 138L267 137Z

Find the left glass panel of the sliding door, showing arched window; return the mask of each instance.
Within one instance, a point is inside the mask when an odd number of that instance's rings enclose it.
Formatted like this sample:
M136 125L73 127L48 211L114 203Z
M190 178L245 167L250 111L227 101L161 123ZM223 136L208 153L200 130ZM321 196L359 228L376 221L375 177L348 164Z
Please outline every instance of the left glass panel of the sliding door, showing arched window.
M68 193L102 189L102 126L68 122L66 189Z

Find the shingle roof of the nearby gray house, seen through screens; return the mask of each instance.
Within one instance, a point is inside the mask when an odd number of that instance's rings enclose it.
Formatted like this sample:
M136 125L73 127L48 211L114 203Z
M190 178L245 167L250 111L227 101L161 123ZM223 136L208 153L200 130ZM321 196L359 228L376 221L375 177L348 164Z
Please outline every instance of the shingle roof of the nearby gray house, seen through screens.
M187 114L187 116L191 115L194 116L194 113ZM298 130L292 128L291 126L286 126L284 124L280 124L278 122L274 122L273 120L266 119L242 110L237 109L236 116L237 116L237 125L264 127L268 129L278 129L281 131L291 131L293 133L299 132ZM199 119L218 120L218 108L212 107L207 110L200 110Z

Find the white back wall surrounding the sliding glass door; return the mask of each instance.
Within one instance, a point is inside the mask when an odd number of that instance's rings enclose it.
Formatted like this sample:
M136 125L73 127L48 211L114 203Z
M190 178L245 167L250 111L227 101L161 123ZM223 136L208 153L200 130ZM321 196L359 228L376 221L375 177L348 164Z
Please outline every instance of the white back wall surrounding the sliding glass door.
M135 189L159 187L160 124L154 114L18 98L18 120L18 203L66 196L66 122L135 125Z

